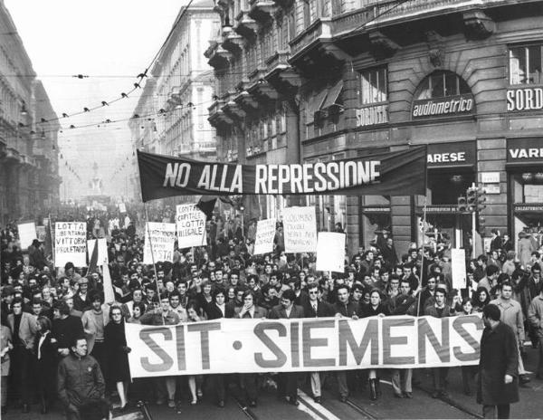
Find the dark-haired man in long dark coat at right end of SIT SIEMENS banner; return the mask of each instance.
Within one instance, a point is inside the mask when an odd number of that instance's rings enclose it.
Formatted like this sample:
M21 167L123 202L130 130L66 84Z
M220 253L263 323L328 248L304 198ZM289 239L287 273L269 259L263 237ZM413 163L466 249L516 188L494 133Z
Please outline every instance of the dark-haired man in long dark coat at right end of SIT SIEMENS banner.
M500 308L490 303L482 310L485 329L481 338L477 402L485 418L510 417L510 404L519 402L519 350L517 337L500 321Z

